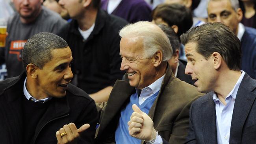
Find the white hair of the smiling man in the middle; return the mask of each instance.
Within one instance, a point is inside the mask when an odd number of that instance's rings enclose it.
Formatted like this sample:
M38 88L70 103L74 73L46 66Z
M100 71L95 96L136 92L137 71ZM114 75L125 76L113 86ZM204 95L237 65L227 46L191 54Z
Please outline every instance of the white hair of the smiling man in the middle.
M121 37L142 38L144 57L152 57L158 50L163 52L163 60L171 59L173 50L165 33L152 22L136 22L120 30Z

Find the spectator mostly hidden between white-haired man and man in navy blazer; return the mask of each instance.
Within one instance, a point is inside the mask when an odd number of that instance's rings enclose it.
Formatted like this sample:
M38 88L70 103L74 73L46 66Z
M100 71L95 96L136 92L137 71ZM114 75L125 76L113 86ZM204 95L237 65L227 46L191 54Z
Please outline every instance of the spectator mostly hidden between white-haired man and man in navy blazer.
M173 48L173 55L171 59L168 60L168 63L171 66L174 76L182 81L185 81L186 83L194 85L195 81L192 80L191 76L185 74L187 61L179 59L180 40L178 36L169 26L163 24L158 24L157 26L159 26L161 30L165 32Z

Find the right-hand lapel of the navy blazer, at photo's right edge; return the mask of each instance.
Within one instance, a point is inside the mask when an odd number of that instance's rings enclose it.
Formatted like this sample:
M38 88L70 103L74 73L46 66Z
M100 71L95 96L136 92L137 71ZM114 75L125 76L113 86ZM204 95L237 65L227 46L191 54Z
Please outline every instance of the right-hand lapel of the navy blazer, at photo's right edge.
M236 95L230 128L230 144L241 143L243 126L256 98L256 94L252 92L255 87L256 84L251 81L248 74L245 74Z

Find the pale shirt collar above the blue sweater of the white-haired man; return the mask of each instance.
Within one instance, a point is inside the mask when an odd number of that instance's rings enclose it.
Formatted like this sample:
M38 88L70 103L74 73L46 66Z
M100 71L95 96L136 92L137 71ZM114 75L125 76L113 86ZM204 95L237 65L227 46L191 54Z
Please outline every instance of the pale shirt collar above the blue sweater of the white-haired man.
M164 76L165 75L163 75L158 80L154 81L154 83L152 83L148 87L145 87L144 89L141 90L141 94L139 96L139 105L144 103L145 100L147 100L147 98L154 95L156 92L158 92L160 90ZM136 91L137 91L137 89L136 89Z

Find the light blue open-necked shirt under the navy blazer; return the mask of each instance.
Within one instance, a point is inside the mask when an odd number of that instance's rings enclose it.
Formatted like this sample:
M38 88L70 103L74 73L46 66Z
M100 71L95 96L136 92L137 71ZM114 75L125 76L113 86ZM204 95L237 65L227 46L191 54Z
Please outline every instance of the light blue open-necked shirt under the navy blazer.
M224 105L217 95L213 94L213 100L215 102L215 111L216 111L216 127L217 127L217 140L218 144L229 144L230 138L230 127L233 109L236 101L236 94L239 88L239 85L245 76L245 72L241 70L242 74L236 82L236 85L231 90L231 92L226 96Z

